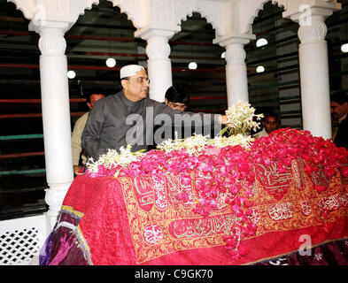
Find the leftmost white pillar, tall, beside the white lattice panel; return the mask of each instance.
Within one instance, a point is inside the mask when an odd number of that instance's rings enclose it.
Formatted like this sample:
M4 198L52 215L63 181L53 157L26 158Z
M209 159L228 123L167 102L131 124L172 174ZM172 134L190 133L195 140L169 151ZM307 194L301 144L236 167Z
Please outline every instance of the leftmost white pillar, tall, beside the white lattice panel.
M43 141L46 163L45 201L50 206L47 218L55 224L64 197L73 182L69 88L66 60L66 23L34 27L40 34L39 48Z

